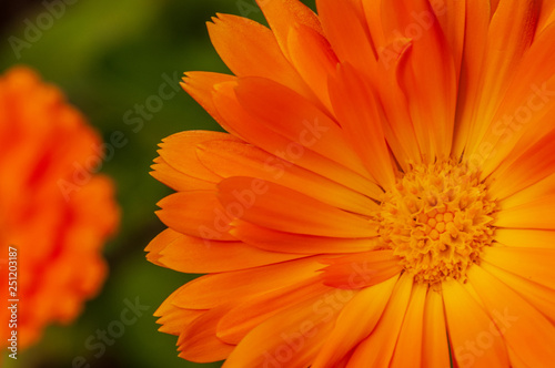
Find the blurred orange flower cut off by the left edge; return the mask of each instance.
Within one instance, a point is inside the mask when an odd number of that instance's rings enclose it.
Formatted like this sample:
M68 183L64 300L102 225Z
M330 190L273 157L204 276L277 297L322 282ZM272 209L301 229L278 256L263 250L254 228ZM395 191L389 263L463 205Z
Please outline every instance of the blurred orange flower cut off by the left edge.
M34 71L16 67L0 78L0 346L8 354L48 325L72 321L104 280L101 252L119 208L111 180L90 171L101 164L99 147L81 113Z

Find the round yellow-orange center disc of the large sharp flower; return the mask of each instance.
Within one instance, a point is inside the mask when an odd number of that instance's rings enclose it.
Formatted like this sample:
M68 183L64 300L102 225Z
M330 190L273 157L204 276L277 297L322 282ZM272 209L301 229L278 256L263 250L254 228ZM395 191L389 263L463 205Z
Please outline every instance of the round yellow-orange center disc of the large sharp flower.
M478 177L453 160L415 165L384 194L380 235L418 283L464 282L492 244L495 202Z

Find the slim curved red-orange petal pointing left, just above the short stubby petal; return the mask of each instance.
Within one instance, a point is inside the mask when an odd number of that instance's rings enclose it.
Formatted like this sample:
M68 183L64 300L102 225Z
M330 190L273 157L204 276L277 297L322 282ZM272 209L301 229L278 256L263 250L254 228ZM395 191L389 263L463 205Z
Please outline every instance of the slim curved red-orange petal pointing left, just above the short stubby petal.
M244 221L235 221L230 234L261 249L297 254L359 253L372 251L380 245L377 238L350 239L292 234Z

